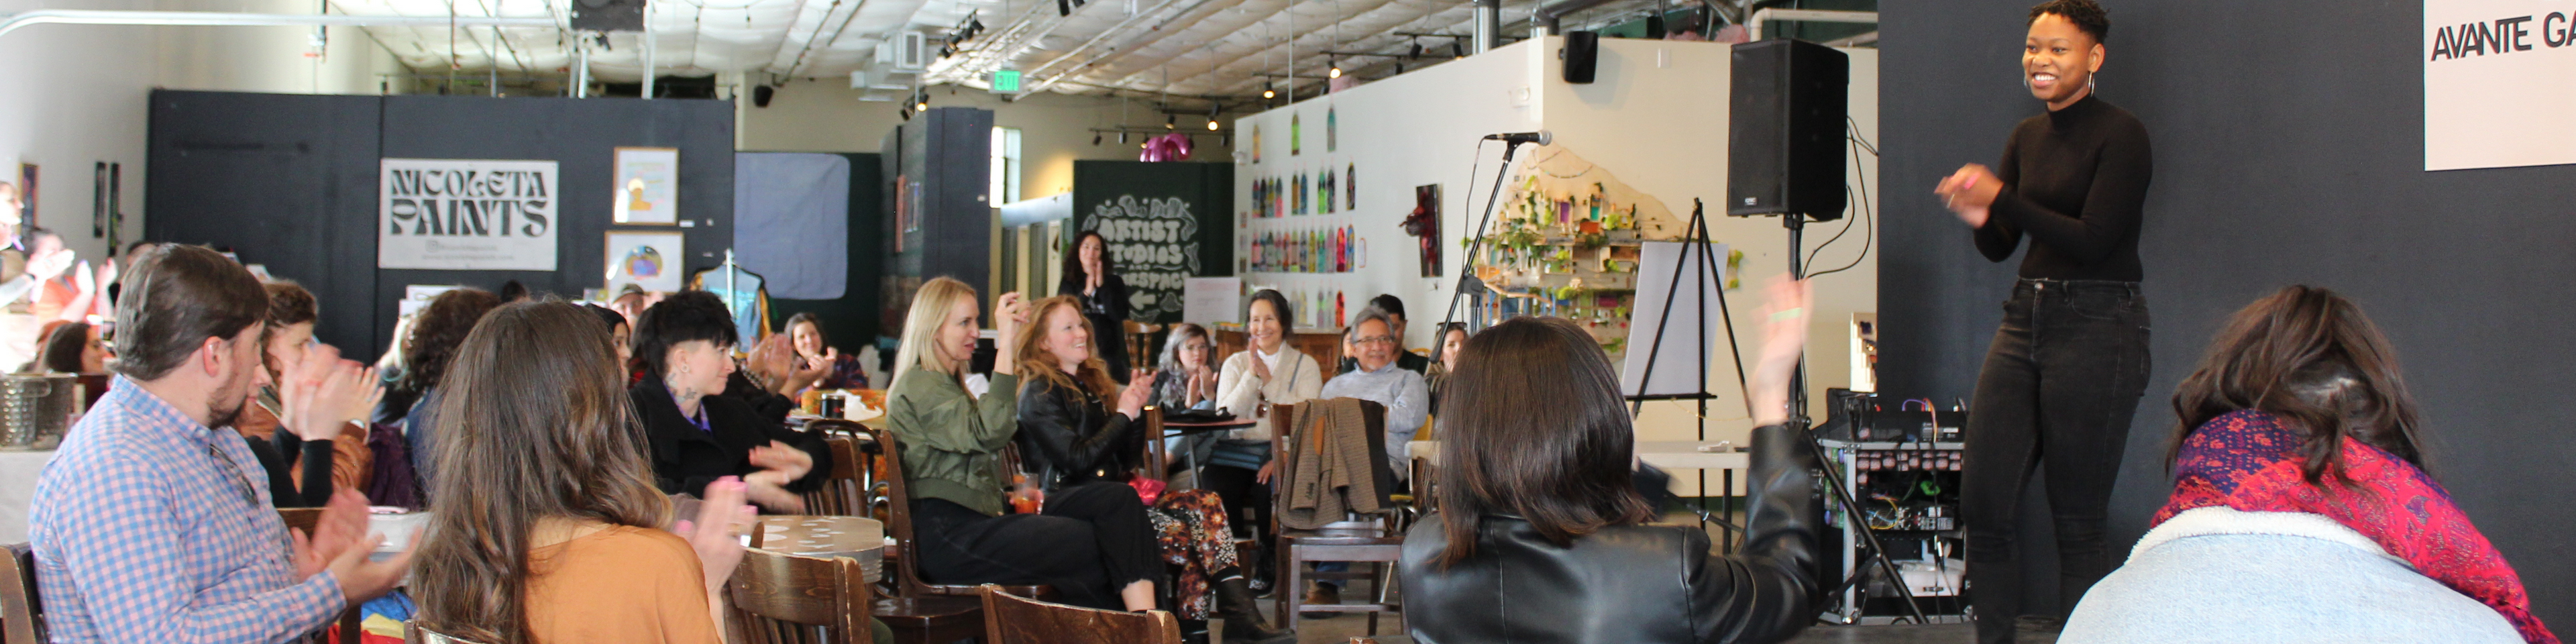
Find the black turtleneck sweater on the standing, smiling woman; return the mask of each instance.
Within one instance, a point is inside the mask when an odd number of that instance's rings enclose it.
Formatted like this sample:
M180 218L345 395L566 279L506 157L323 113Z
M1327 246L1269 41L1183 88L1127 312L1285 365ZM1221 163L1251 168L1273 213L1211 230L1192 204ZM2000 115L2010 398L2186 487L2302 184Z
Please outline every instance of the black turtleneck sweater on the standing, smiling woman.
M2138 281L2146 273L2138 219L2156 167L2138 116L2087 95L2022 118L1994 173L2004 191L1976 229L1986 260L2012 258L2030 234L2022 278Z

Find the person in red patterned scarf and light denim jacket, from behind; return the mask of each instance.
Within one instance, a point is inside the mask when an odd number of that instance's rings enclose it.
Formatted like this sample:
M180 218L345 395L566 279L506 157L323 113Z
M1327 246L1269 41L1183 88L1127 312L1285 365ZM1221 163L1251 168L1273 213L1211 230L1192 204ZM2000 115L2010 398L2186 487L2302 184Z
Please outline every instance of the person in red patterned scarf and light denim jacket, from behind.
M2174 415L2174 495L2058 641L2558 641L2424 471L2396 350L2349 299L2236 312Z

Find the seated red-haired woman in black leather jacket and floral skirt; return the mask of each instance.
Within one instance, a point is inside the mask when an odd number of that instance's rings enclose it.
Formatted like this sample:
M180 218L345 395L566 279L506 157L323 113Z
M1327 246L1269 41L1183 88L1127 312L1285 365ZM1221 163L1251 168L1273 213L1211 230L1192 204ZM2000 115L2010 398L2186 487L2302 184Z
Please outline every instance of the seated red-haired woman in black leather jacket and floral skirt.
M1023 466L1043 484L1048 510L1097 502L1090 495L1118 497L1115 505L1123 507L1136 500L1136 489L1123 482L1146 464L1141 420L1154 376L1139 368L1123 392L1110 381L1108 366L1092 353L1095 335L1082 299L1051 296L1033 309L1038 325L1020 327L1012 353L1020 374L1028 374L1020 384ZM1280 636L1252 605L1249 580L1234 556L1234 528L1226 526L1216 492L1162 489L1146 520L1162 562L1180 572L1172 580L1180 618L1224 616L1226 639Z

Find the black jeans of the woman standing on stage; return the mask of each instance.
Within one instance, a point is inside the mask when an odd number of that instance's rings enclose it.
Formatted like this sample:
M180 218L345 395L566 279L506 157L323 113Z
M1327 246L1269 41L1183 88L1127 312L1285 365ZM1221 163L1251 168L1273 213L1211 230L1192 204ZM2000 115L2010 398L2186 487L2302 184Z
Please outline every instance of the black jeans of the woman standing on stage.
M1968 520L1968 590L1976 639L2012 641L2022 605L2022 489L2048 469L2058 538L2058 616L2110 572L2102 520L2146 392L2146 296L2136 281L2025 278L1976 376L1960 518Z

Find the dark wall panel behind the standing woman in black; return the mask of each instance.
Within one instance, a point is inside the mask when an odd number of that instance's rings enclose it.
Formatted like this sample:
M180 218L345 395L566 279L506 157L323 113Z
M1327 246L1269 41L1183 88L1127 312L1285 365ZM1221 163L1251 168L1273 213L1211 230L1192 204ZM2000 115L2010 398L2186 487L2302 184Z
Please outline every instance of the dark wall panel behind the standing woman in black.
M2424 173L2421 3L2105 3L2099 95L2146 121L2154 379L2112 500L2130 544L2164 502L2169 397L2233 309L2287 283L2344 291L2393 337L2432 471L2532 590L2576 621L2576 165ZM2014 121L2030 0L1883 3L1880 392L1968 397L2020 258L1986 263L1932 196L1994 162ZM1968 440L1976 440L1973 435ZM2115 549L2120 551L2120 549Z

